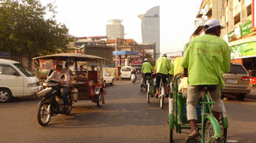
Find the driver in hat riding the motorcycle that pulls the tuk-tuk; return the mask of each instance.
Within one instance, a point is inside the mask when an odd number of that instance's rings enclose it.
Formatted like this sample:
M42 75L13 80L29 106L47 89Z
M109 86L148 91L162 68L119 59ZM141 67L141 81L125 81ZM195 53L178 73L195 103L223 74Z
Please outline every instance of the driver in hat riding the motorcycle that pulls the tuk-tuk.
M50 80L54 80L56 82L60 82L61 86L61 94L64 101L64 108L67 112L69 110L69 101L68 101L68 88L69 88L69 72L66 69L62 69L63 62L57 61L54 65L54 72L46 79L45 82L49 82ZM63 77L63 78L62 78Z

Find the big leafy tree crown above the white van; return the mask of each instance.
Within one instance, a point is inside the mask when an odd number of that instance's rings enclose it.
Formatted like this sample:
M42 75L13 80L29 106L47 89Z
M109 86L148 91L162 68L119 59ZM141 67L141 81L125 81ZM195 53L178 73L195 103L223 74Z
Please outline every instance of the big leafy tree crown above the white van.
M54 9L38 0L0 0L0 51L35 57L67 49L69 30L54 19Z

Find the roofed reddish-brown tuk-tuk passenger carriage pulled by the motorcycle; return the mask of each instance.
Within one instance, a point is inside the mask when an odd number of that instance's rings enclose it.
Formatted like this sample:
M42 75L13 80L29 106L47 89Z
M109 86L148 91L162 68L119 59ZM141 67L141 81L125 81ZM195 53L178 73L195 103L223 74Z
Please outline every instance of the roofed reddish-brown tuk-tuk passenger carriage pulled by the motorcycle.
M33 61L35 73L42 82L50 69L54 68L54 61L64 61L65 68L71 75L69 87L73 89L72 92L75 91L72 94L72 101L91 100L97 104L98 108L105 103L106 90L102 88L104 58L80 53L57 53L35 57ZM85 68L80 69L83 67Z

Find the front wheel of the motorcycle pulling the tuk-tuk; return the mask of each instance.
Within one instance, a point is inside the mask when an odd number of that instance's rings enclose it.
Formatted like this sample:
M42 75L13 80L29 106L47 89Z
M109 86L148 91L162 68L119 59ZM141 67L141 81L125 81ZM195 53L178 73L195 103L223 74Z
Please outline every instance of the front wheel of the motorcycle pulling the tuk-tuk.
M48 123L50 123L51 113L50 109L48 111L50 104L49 103L43 103L39 106L39 112L37 114L37 119L39 121L39 124L43 127L46 127Z

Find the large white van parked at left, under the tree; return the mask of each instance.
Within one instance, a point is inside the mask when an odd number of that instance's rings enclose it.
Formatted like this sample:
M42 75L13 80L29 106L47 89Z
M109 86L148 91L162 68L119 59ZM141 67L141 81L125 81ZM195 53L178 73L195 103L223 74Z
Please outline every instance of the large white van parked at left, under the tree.
M0 59L0 102L31 96L39 90L39 79L18 61Z

